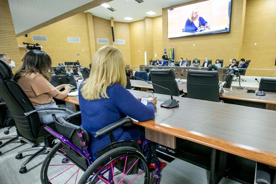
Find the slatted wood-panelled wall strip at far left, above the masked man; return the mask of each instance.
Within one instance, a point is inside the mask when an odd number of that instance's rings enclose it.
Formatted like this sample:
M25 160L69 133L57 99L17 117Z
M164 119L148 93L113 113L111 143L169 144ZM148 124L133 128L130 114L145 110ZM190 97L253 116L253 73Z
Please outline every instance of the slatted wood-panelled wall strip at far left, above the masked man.
M21 57L8 0L0 1L0 53L8 55L15 62L15 72L21 65Z

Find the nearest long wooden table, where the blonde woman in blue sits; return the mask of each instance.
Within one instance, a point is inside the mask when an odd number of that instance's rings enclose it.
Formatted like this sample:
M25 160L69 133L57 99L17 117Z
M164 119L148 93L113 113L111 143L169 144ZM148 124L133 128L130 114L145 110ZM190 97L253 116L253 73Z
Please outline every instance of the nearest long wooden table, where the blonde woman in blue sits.
M143 91L129 91L135 97L145 96ZM158 98L170 98L169 95L154 95ZM221 156L216 153L223 152L227 157L230 154L249 159L255 165L260 162L276 167L275 111L183 97L174 98L179 101L178 108L161 108L162 101L158 101L154 120L133 121L145 127L147 139L174 149L176 139L180 138L212 148L212 159ZM67 103L79 104L78 96L66 97L64 100ZM217 182L211 182L211 178L215 178L212 172L216 170L215 166L216 164L211 164L210 167L210 183ZM255 172L254 168L252 172Z

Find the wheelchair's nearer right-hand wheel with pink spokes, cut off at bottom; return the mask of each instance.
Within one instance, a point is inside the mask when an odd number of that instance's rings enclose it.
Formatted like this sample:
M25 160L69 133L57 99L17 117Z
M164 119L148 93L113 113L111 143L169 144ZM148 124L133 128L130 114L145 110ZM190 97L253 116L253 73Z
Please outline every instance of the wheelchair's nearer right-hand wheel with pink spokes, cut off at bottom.
M142 152L118 147L100 156L85 171L78 184L149 184L150 171Z

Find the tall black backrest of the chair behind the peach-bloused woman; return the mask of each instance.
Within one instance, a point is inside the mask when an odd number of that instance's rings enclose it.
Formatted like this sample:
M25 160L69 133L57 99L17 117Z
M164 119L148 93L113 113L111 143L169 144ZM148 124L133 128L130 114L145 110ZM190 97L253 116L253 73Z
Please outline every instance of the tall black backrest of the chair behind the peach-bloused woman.
M9 66L0 60L0 94L9 108L20 134L27 139L37 139L40 127L39 115L21 87L11 80ZM26 112L34 111L29 115Z

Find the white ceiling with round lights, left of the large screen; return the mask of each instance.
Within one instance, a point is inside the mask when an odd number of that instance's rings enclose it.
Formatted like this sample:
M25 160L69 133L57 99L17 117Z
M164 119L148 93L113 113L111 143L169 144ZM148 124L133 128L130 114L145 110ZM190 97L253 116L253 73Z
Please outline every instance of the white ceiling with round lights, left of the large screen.
M110 20L110 17L114 18L117 22L134 22L137 20L143 20L145 17L157 17L162 15L161 7L170 7L187 3L194 0L144 0L143 3L138 3L135 0L114 0L108 4L116 9L116 11L110 11L109 9L98 6L87 10L93 15ZM155 15L148 15L146 12L153 11ZM133 20L125 20L125 17L131 17Z

